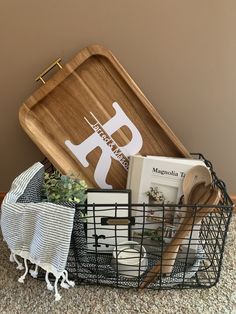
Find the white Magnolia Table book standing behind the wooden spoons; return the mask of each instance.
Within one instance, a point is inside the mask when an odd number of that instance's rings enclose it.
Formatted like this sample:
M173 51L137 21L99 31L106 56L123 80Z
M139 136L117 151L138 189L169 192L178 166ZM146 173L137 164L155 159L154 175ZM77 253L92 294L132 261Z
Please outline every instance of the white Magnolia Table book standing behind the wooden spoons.
M186 211L186 208L178 206L183 199L183 180L186 173L197 165L206 166L200 159L130 156L127 188L132 191L132 203L147 204L145 219L140 206L133 209L136 223L132 236L135 240L143 236L147 250L157 248L158 243L161 246L161 241L169 243L178 230ZM199 226L194 226L191 241L186 238L181 250L196 253L198 240Z

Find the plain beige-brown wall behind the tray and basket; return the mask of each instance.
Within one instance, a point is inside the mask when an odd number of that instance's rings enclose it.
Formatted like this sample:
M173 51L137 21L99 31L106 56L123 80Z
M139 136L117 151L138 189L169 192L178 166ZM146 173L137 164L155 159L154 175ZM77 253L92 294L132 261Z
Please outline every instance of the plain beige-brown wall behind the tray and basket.
M0 191L42 155L18 109L35 76L100 43L236 193L236 1L0 0Z

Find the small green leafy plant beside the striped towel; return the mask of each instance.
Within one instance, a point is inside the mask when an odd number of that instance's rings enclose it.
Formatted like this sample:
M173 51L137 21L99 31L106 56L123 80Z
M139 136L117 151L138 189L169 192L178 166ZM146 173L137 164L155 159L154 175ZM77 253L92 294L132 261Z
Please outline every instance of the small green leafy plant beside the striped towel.
M87 184L74 175L62 175L59 171L45 172L42 188L43 201L59 203L84 203Z

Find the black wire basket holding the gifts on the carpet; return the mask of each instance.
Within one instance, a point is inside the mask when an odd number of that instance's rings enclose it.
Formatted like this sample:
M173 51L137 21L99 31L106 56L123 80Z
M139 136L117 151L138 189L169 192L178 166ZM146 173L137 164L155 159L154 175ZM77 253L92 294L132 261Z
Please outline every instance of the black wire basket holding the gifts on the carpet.
M179 289L209 288L218 282L233 203L212 164L201 154L192 155L204 160L211 171L213 185L221 191L217 206L76 205L67 270L78 284ZM204 215L209 207L211 212ZM110 221L104 219L104 208ZM122 210L127 211L127 208L129 216L120 218ZM176 213L176 208L180 217L171 224L169 218ZM199 208L203 209L200 222L197 219ZM182 238L178 239L178 229L182 217L190 211L193 223L186 226L188 232L182 242ZM122 230L128 233L123 235ZM104 231L109 231L110 236L100 236ZM181 245L170 246L173 237L177 243L182 242ZM107 241L110 248L103 250L108 246Z

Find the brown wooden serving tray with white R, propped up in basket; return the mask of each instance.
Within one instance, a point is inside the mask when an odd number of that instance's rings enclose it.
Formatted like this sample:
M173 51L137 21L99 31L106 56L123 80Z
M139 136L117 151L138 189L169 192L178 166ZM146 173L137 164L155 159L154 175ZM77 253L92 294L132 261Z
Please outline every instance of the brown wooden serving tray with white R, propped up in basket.
M134 154L190 157L113 54L79 52L21 106L23 129L63 173L122 189Z

